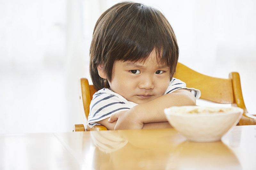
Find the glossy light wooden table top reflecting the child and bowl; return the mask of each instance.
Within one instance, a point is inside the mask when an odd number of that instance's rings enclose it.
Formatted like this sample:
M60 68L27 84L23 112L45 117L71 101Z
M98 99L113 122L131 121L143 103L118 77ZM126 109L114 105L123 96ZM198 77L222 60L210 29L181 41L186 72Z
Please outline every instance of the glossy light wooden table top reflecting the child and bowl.
M175 129L0 135L0 169L256 169L256 125L189 142Z

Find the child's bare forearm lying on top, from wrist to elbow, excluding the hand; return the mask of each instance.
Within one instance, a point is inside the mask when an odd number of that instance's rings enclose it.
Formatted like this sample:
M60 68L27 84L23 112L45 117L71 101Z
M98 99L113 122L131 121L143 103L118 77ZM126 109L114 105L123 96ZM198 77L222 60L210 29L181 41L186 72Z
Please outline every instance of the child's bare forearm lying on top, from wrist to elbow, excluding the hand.
M188 90L180 89L147 103L137 105L132 109L139 115L140 121L146 124L152 122L167 122L164 115L164 108L188 105L196 105L196 99Z

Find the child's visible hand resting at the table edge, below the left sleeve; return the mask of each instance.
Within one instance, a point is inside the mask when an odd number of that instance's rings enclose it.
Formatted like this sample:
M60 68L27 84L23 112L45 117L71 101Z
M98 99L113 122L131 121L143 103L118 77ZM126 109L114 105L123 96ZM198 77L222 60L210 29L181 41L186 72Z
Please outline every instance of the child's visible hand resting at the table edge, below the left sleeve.
M140 121L139 115L133 108L111 115L108 122L112 123L114 121L117 121L114 128L115 130L142 129L144 125L144 123Z

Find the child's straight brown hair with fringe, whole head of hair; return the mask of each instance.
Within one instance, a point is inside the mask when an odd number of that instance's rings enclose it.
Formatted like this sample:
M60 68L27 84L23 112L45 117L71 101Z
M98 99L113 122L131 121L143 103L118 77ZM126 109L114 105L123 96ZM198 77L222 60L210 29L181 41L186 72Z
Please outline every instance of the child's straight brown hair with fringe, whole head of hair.
M123 2L105 11L98 19L90 48L90 75L96 89L109 87L113 64L117 60L145 61L156 49L158 62L170 67L172 78L179 57L179 47L171 25L155 8ZM108 79L99 76L103 64Z

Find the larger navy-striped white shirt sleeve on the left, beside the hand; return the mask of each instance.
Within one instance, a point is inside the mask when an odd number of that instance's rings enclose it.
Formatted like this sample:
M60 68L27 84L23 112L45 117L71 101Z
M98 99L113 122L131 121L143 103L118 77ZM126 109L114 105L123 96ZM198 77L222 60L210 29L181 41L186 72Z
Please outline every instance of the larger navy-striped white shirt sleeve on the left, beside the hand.
M100 120L120 111L129 110L131 106L117 93L109 89L101 89L93 95L88 116L88 126L92 127Z

